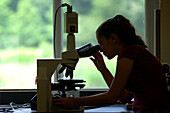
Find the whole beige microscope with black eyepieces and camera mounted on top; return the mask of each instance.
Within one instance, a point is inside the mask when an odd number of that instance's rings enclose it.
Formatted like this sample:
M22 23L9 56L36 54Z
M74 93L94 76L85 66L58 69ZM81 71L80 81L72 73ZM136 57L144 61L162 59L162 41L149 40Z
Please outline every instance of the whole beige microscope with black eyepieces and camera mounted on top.
M75 70L79 58L89 57L100 50L99 45L92 46L91 43L75 49L74 33L78 33L78 14L72 12L72 6L68 4L62 4L62 6L67 6L64 22L65 32L68 33L67 50L62 52L62 58L37 59L37 112L67 111L58 108L52 102L52 99L58 96L61 98L79 96L76 92L77 87L80 89L83 88L85 81L83 79L73 79L73 70ZM66 70L65 76L70 77L70 79L60 78L57 82L51 83L51 77L59 64L61 64L62 67L57 73L63 73L64 70ZM60 93L52 94L52 91ZM69 91L72 91L72 93L68 95L67 92ZM72 111L83 110L83 107L80 107Z

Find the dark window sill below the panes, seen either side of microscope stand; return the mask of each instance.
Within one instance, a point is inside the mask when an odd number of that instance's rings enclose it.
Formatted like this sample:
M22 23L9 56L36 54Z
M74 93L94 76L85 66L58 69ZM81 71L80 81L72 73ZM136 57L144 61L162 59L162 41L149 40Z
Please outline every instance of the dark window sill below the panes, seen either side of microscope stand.
M107 90L106 87L83 88L80 89L80 97L103 93ZM36 89L0 89L0 104L9 104L10 102L17 104L29 103L36 93Z

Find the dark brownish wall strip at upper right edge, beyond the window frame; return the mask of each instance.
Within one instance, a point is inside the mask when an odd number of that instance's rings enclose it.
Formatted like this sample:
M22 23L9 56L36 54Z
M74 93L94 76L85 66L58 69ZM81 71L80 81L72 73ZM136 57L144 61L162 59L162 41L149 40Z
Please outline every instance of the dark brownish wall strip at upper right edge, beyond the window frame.
M160 0L161 62L170 65L170 0Z

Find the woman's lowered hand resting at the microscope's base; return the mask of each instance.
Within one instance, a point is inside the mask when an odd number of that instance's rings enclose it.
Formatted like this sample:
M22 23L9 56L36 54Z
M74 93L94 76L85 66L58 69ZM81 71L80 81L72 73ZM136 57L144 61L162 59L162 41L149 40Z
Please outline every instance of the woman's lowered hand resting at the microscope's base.
M74 109L79 106L76 99L73 97L53 99L53 102L62 109Z

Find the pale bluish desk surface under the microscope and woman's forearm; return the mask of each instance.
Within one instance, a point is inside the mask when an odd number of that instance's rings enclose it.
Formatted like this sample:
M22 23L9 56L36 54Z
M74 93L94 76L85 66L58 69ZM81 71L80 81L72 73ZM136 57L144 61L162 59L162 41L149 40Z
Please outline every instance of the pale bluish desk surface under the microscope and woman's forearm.
M31 110L31 108L19 108L19 109L15 109L15 111L13 113L35 113L35 110ZM132 110L126 110L125 105L122 104L116 104L116 105L111 105L111 106L106 106L106 107L98 107L98 108L88 108L85 110L84 112L78 112L78 113L120 113L120 112L124 112L124 113L133 113ZM68 112L67 112L68 113Z

